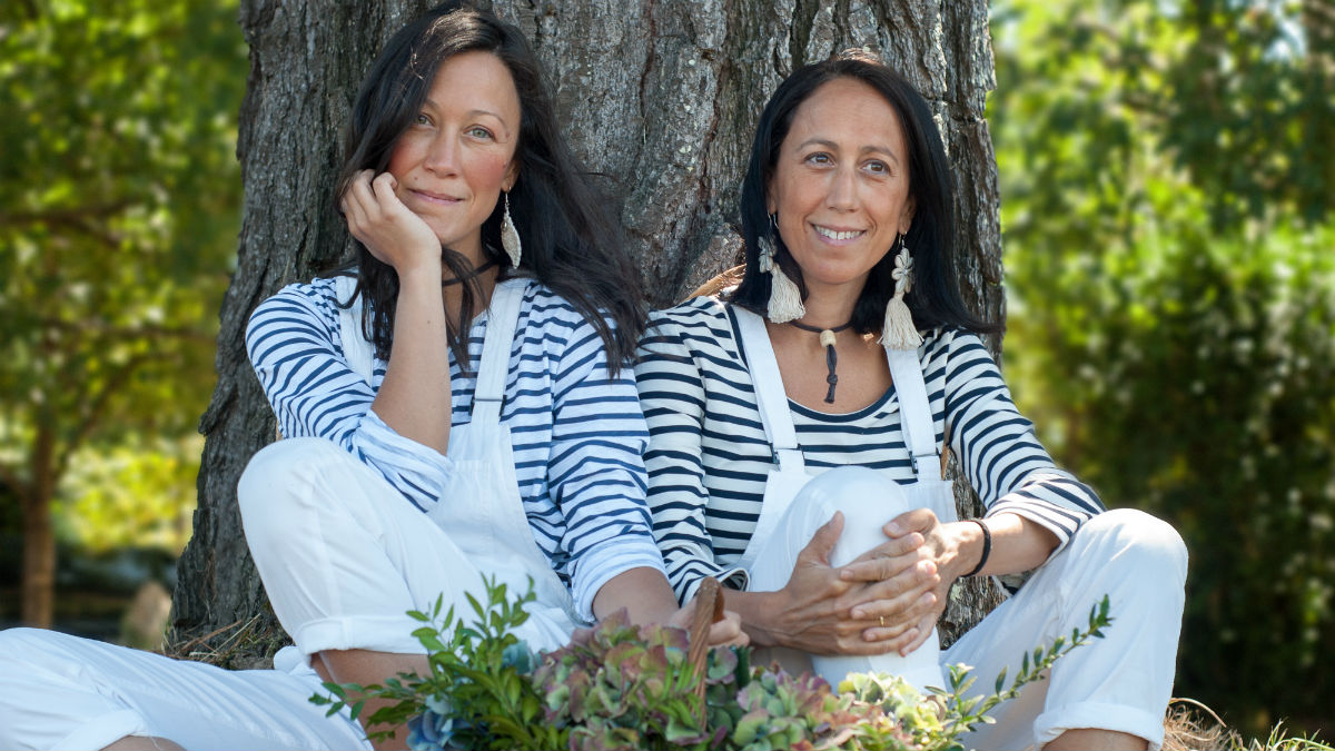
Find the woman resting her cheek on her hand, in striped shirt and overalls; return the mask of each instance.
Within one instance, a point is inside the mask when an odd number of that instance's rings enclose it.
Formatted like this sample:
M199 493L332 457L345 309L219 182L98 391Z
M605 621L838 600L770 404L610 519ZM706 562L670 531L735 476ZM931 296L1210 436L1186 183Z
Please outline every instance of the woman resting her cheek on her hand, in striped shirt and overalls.
M399 31L358 94L338 196L356 273L286 287L247 330L286 438L238 494L295 644L231 672L8 631L0 747L370 747L310 696L426 673L407 611L466 616L483 577L531 585L534 649L619 609L688 623L643 497L637 275L519 32L458 5ZM745 641L736 615L710 640Z

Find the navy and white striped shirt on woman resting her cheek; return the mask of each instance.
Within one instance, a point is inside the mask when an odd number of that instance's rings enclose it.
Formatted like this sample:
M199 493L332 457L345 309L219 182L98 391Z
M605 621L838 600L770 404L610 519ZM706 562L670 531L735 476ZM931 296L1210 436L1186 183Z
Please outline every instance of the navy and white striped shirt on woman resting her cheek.
M332 279L284 287L251 315L246 347L284 436L334 441L376 469L419 509L441 502L455 470L434 449L405 438L372 410L372 384L343 355ZM469 331L469 370L450 353L453 424L471 421L487 314ZM510 350L501 421L510 428L529 528L551 568L593 620L593 597L637 567L662 571L645 505L647 441L629 369L607 373L598 333L565 299L530 282Z

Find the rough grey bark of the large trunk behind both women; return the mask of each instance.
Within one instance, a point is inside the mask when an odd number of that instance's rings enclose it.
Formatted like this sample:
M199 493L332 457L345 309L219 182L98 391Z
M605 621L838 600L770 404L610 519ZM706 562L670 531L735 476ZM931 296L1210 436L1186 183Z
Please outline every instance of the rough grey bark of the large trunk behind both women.
M274 418L246 362L244 326L266 295L346 251L330 187L347 107L379 45L425 7L242 1L251 47L238 146L244 220L222 310L219 382L200 425L207 442L195 535L179 564L178 640L238 621L251 621L262 637L242 652L262 652L282 637L236 512L246 461L274 438ZM575 150L623 200L630 251L655 305L736 262L736 199L768 94L805 61L865 45L932 103L959 187L961 287L977 311L1003 317L996 163L983 120L993 86L985 0L502 0L493 7L533 40ZM1000 338L989 345L997 353ZM971 493L960 497L961 509L975 510ZM981 608L953 604L947 631L976 621L995 593L981 601Z

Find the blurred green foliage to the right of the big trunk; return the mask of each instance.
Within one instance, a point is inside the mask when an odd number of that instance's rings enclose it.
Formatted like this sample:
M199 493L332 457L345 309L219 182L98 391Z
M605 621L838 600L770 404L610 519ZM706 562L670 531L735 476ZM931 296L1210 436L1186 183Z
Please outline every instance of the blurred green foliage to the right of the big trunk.
M1328 734L1335 7L1000 0L992 31L1016 398L1187 539L1176 694Z

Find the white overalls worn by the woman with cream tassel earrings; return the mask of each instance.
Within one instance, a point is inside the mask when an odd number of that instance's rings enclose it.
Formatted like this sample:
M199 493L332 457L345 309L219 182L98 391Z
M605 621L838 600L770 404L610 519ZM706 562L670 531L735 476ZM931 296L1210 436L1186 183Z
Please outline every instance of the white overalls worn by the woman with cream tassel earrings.
M836 510L844 532L830 553L844 565L885 541L881 527L912 508L930 508L943 522L956 520L951 484L940 478L940 454L916 351L888 350L898 396L905 445L916 481L900 485L882 472L837 468L806 474L797 445L788 396L764 321L740 307L741 343L756 386L765 434L778 465L765 485L756 532L740 565L748 589L782 588L797 555ZM964 663L977 678L973 695L992 691L1001 669L1015 676L1025 652L1084 628L1089 607L1107 595L1113 623L1064 656L1048 679L1029 684L1019 699L992 714L963 740L969 748L1009 751L1036 748L1072 728L1100 728L1137 735L1151 748L1163 743L1163 711L1172 690L1177 635L1181 628L1187 551L1168 524L1135 509L1115 509L1084 522L1069 543L1035 569L1024 587L981 623L940 652L936 633L908 657L824 657L770 649L786 668L806 660L836 683L849 672L889 672L909 683L944 686L939 667Z

